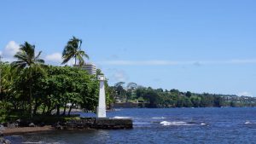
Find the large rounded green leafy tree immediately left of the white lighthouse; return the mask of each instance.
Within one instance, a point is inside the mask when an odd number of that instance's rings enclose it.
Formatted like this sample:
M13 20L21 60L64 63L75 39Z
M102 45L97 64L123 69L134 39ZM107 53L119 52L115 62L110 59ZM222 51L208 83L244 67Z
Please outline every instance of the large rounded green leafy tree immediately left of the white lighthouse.
M63 115L70 114L74 106L84 108L86 111L95 111L99 82L95 76L89 75L84 70L70 66L49 66L48 77L44 78L44 91L47 99L44 101L44 109L47 114L56 109L56 115L60 115L63 107ZM108 89L108 87L106 87ZM106 90L108 101L108 91ZM48 101L49 100L49 101ZM67 103L71 104L67 110Z

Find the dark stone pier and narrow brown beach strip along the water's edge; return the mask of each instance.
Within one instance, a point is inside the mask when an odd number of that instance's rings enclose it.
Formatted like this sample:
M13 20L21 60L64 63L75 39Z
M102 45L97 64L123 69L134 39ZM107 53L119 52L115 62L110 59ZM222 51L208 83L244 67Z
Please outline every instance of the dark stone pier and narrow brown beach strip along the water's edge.
M5 128L3 135L19 135L35 132L49 132L55 130L125 130L132 129L132 120L125 118L82 118L67 121L67 123L56 123L43 127L15 127Z

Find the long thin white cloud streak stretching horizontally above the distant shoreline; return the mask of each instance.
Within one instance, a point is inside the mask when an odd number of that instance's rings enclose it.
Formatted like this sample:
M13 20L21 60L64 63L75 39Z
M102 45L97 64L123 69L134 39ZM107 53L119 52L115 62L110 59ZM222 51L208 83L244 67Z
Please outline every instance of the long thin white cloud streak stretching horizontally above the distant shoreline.
M248 60L202 60L202 61L174 61L174 60L108 60L98 62L102 65L114 66L176 66L176 65L240 65L256 64L256 59Z

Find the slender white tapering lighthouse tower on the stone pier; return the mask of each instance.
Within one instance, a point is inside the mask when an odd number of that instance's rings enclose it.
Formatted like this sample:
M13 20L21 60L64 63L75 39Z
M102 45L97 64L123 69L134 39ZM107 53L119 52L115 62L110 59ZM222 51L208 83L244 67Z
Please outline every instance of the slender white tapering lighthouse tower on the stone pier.
M106 96L104 82L106 78L104 75L98 75L97 79L100 81L100 95L97 107L97 118L106 118Z

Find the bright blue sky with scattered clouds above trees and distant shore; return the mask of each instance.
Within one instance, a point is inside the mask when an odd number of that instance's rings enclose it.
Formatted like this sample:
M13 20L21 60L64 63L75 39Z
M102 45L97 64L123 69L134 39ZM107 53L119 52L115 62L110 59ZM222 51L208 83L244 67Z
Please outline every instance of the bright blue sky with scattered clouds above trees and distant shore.
M20 43L59 65L72 36L109 78L163 89L256 95L254 0L0 2L4 60Z

